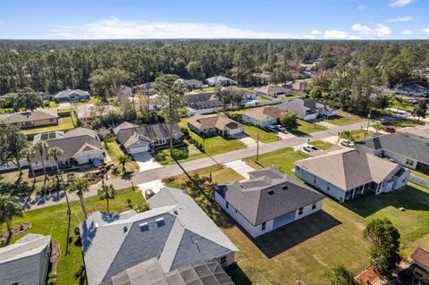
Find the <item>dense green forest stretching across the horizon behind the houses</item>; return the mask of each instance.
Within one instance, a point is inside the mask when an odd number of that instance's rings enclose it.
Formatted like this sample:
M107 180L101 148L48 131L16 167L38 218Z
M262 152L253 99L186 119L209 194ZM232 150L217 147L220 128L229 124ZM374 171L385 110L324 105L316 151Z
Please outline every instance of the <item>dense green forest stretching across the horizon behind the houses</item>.
M51 94L91 88L109 96L103 93L118 84L135 86L167 73L200 80L226 75L255 86L254 72L273 71L273 83L282 83L299 71L299 63L319 58L319 76L308 91L347 106L353 93L358 99L370 96L375 86L422 80L412 71L429 65L428 51L428 40L4 40L0 95L23 88Z

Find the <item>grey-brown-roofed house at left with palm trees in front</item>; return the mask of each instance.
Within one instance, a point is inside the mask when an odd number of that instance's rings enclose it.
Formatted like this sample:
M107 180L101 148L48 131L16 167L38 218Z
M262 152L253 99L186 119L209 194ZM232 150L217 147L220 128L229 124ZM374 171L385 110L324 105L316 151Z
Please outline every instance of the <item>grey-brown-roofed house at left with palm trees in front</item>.
M38 140L45 140L48 148L60 147L63 150L63 155L60 155L58 159L61 168L87 163L99 166L105 158L100 138L98 138L95 130L77 128L69 130L66 133L62 131L41 133L34 137L34 142ZM45 167L55 170L56 163L54 158L49 156L46 159L45 153L43 157ZM36 151L36 154L31 160L31 167L34 170L43 169L42 159L38 151Z

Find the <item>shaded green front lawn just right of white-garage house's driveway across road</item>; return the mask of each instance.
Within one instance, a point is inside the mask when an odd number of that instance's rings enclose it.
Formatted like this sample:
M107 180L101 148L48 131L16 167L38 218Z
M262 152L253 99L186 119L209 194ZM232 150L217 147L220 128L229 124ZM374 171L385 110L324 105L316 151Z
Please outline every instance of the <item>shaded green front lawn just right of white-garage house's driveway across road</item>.
M197 147L189 145L188 143L185 143L184 146L173 147L172 153L174 158L181 163L192 159L206 157L206 155L200 152ZM172 156L170 155L170 148L156 150L152 156L154 156L156 162L161 164L175 163L174 159L172 159Z

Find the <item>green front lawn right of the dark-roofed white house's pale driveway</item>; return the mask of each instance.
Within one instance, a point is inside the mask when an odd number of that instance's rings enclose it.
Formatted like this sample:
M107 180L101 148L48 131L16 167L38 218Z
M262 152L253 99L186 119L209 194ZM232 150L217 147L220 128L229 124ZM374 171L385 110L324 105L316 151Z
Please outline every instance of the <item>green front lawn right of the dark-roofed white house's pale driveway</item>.
M259 155L259 159L256 162L257 156L251 156L245 158L244 161L255 169L263 168L266 166L274 166L281 172L291 174L294 168L293 163L300 159L308 158L309 155L295 151L290 147L275 150L273 152Z

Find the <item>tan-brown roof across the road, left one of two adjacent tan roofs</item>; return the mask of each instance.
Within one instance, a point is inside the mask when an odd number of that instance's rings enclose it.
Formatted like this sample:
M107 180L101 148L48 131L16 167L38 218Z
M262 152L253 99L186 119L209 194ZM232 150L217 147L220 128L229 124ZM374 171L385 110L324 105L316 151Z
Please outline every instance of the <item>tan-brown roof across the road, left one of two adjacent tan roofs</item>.
M190 117L187 122L189 122L198 130L214 128L219 130L236 130L243 128L243 125L240 122L235 122L226 116L218 114L203 116L199 113L196 113Z

